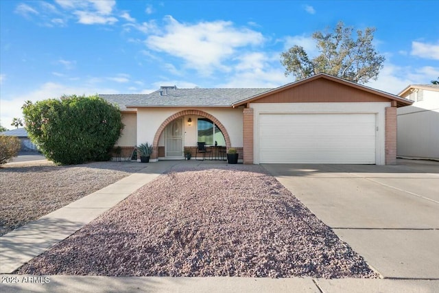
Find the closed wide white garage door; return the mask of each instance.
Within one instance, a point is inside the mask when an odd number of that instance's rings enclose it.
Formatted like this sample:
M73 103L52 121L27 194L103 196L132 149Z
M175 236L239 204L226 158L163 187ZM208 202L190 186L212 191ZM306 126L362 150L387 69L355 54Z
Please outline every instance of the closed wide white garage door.
M259 162L375 164L375 115L261 114Z

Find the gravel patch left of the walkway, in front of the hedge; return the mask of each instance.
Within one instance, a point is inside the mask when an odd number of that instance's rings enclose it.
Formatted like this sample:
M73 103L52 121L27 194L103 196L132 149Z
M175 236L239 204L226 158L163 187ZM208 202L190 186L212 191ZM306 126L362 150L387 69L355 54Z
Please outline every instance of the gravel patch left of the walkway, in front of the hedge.
M143 169L133 162L56 166L34 161L0 168L0 235Z

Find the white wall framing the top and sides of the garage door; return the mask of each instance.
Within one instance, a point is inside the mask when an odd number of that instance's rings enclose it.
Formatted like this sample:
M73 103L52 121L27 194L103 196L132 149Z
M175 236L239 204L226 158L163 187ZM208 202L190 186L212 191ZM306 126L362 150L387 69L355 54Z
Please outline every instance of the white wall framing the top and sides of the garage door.
M259 116L260 114L305 113L368 113L376 118L376 164L385 165L385 108L390 102L377 103L250 103L254 109L253 162L259 164Z

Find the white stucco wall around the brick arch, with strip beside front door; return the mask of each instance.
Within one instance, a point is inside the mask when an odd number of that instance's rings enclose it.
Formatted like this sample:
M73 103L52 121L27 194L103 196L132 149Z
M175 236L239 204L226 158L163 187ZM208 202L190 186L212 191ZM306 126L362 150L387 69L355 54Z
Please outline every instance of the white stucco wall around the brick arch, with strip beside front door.
M139 108L137 110L137 144L152 143L158 128L168 117L182 110L201 110L209 113L218 119L226 128L230 137L230 143L236 148L241 148L242 140L242 117L241 108ZM187 120L192 120L191 126L188 126ZM185 133L185 146L197 145L197 118L198 115L186 115L183 117L183 128ZM165 139L161 135L158 145L165 145Z

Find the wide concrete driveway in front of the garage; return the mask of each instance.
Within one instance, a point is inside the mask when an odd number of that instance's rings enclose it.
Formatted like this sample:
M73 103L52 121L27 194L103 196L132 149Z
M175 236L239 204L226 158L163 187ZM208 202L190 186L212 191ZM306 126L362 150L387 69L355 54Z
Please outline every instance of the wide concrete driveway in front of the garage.
M439 162L263 166L383 277L439 279Z

